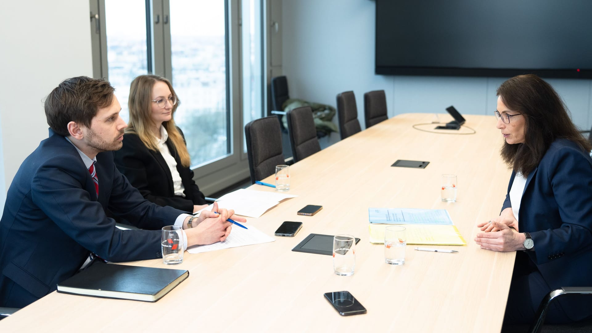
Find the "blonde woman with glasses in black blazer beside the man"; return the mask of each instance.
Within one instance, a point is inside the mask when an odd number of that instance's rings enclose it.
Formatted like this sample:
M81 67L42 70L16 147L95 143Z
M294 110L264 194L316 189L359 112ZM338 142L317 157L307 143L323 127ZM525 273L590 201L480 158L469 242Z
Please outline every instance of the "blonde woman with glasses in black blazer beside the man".
M140 75L131 82L130 121L115 165L149 201L186 212L207 207L193 180L189 153L173 114L179 98L170 82Z

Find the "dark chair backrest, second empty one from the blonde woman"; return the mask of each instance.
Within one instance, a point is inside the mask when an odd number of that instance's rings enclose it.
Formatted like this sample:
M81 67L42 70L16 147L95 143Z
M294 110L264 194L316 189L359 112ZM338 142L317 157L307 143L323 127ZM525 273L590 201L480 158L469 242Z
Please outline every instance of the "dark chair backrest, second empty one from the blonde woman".
M317 130L314 126L313 109L298 107L288 111L286 117L294 162L320 152L321 145L318 143Z

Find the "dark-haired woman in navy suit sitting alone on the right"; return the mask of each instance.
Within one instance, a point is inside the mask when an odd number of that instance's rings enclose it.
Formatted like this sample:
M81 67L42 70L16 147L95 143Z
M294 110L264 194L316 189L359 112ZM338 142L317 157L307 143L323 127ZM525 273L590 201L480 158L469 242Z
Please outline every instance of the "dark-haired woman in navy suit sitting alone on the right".
M592 159L564 103L536 75L497 89L501 156L513 169L500 216L479 223L475 242L517 251L504 324L527 324L559 287L592 286ZM513 227L514 229L511 229ZM592 297L559 297L546 322L592 315Z

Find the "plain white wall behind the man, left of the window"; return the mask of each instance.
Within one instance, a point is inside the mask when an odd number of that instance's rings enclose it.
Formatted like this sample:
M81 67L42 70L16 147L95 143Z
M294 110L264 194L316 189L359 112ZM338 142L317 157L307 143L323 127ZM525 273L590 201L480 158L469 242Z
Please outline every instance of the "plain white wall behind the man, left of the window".
M3 1L2 14L0 208L18 167L48 135L44 97L63 79L92 76L88 0Z

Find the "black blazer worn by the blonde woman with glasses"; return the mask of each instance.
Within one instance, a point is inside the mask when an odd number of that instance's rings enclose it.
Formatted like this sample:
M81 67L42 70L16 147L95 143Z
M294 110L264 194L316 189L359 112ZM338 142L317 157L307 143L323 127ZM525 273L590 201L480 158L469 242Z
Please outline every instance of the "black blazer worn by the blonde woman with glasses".
M173 177L162 154L148 149L135 134L123 136L123 148L115 152L115 165L146 200L160 206L193 212L195 204L206 203L205 196L193 180L193 171L181 165L181 159L170 139L166 140L166 146L177 162L177 171L185 187L185 198L175 196Z

